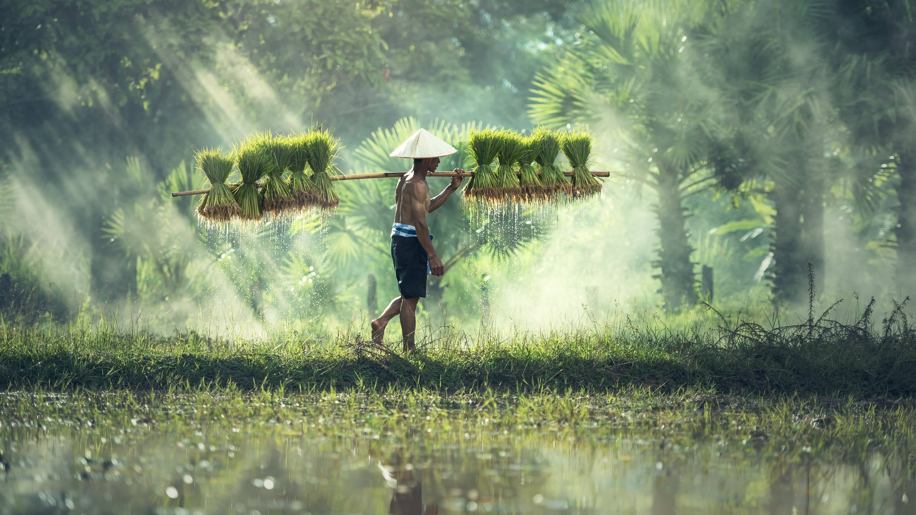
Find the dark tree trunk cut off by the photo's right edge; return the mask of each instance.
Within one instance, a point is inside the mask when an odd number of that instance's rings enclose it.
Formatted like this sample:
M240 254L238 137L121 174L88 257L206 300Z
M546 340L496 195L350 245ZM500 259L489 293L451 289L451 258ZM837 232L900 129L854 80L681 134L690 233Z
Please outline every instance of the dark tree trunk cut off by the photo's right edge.
M913 268L916 268L916 154L900 152L897 173L900 181L897 184L897 284L901 296L916 293L916 279Z

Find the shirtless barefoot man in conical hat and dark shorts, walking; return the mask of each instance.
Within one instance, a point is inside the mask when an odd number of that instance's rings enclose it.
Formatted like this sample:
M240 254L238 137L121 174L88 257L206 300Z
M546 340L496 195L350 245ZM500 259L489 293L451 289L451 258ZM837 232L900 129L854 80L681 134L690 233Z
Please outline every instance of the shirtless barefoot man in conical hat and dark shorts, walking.
M426 276L442 276L445 269L442 259L432 247L432 235L426 225L426 215L439 209L442 203L457 192L464 180L464 170L457 173L452 182L434 198L430 198L428 174L439 166L439 158L457 152L442 139L420 129L391 153L393 158L413 159L413 168L398 181L395 193L395 222L391 228L391 259L398 277L400 297L385 308L381 316L372 321L372 339L381 345L385 327L395 316L400 315L401 331L404 334L404 352L415 352L414 332L417 330L417 302L426 297Z

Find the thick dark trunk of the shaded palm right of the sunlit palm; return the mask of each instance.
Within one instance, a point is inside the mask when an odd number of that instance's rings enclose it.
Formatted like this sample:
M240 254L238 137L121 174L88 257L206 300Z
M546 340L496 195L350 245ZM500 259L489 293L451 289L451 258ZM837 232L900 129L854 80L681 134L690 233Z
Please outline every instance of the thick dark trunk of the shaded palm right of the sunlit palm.
M802 193L797 184L777 183L770 193L776 206L773 217L773 301L802 301L807 263L802 250Z

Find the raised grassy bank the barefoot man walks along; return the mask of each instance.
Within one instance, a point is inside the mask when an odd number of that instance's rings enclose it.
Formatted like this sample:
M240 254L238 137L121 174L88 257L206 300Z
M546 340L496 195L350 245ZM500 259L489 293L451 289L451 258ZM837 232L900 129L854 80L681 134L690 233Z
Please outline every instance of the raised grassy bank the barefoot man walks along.
M296 334L164 338L105 325L0 324L0 387L169 389L234 384L296 391L468 389L601 391L636 385L756 393L916 394L916 332L905 317L727 324L675 333L650 324L498 337L458 334L402 356L361 334L316 344Z

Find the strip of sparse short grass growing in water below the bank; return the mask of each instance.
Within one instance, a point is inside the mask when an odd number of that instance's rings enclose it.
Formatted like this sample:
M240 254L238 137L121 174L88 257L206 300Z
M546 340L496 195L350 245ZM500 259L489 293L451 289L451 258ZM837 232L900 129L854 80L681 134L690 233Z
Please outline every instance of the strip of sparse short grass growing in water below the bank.
M38 430L74 433L96 451L106 439L123 438L125 429L188 433L202 425L211 435L233 437L240 431L233 428L257 436L331 433L387 444L422 435L431 446L460 443L473 435L474 445L492 448L544 434L553 444L606 444L627 437L684 445L743 441L762 455L781 455L783 460L815 455L822 464L861 462L876 451L886 458L906 456L916 446L916 410L910 402L736 397L700 389L675 395L646 388L604 394L540 389L529 394L484 390L447 395L429 389L302 393L234 387L102 395L29 391L0 396L0 414L0 436L5 438L33 438ZM749 455L747 465L759 466L760 455ZM778 466L780 461L767 463Z

